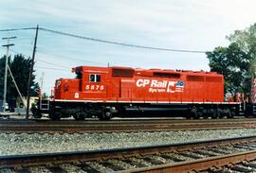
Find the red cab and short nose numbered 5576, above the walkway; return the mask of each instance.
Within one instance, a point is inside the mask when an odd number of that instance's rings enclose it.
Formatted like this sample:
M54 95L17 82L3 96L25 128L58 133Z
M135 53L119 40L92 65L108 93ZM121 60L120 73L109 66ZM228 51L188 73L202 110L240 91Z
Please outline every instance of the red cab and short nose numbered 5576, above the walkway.
M55 82L55 100L86 100L106 96L106 71L93 71L86 67L72 69L76 78L60 78Z

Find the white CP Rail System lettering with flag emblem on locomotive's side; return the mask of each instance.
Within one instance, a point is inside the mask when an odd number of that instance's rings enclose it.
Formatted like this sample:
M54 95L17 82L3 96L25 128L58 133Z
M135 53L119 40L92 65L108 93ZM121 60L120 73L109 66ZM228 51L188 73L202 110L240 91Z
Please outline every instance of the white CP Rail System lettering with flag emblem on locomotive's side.
M150 93L183 93L185 82L156 79L137 79L137 87L147 87Z

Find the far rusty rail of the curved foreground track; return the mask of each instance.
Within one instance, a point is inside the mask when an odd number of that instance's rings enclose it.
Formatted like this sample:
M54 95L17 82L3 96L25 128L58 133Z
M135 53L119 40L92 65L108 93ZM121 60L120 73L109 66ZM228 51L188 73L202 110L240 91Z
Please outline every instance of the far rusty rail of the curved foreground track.
M93 151L56 152L28 155L0 156L0 168L24 167L40 164L64 164L82 163L89 161L102 161L107 159L127 158L131 156L143 156L155 153L167 153L172 151L183 151L206 147L220 147L234 144L256 142L256 136L218 139L193 143L182 143L173 145L149 146L149 147L128 147L116 149L104 149Z

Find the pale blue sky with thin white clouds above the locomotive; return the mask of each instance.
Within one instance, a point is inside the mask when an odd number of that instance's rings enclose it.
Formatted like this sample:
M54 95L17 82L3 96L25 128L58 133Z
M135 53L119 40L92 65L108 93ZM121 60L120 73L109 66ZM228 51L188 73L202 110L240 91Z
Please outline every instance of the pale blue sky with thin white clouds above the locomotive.
M34 27L119 43L212 51L226 36L256 22L255 0L0 0L0 29ZM31 57L35 30L0 32L15 52ZM1 44L6 41L1 40ZM6 49L0 49L0 56ZM36 80L43 92L57 78L74 78L81 65L209 71L205 54L157 51L96 43L39 30Z

